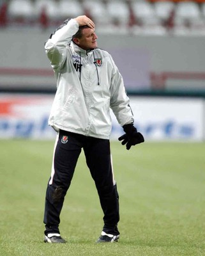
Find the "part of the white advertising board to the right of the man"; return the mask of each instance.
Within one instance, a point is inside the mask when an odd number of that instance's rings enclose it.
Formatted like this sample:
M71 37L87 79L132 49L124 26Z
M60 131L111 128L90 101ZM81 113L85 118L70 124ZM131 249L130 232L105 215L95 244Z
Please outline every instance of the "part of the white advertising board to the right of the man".
M135 125L145 140L204 140L204 100L174 97L130 97ZM113 116L113 136L119 135ZM118 134L117 134L118 133ZM115 138L116 138L115 137Z

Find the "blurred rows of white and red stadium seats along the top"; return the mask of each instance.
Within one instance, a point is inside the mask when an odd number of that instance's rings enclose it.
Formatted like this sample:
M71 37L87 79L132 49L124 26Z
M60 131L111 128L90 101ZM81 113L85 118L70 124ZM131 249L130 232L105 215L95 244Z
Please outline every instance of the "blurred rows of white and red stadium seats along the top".
M48 28L88 15L112 33L189 33L205 35L205 3L176 0L8 0L0 1L0 26ZM109 24L109 29L108 25Z

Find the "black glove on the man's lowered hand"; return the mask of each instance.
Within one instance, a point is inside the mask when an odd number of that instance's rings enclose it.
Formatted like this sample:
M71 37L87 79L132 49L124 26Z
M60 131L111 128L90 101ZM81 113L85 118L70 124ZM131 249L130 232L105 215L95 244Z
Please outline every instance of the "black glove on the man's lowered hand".
M125 134L119 137L118 140L122 140L122 145L126 144L126 149L129 150L132 146L144 142L144 137L140 132L137 132L137 129L133 124L123 125L123 130Z

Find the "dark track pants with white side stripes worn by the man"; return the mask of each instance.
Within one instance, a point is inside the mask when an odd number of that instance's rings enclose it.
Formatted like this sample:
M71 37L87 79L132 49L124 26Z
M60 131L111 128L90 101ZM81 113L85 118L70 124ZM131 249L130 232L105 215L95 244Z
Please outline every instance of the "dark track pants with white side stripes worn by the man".
M60 213L81 150L95 181L103 210L103 231L118 235L119 196L112 170L110 141L59 131L45 198L45 234L59 233Z

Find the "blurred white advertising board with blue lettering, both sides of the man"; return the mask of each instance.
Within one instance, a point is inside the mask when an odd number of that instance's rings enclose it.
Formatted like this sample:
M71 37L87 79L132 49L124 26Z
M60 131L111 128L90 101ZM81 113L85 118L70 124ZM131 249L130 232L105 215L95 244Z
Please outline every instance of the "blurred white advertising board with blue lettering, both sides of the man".
M0 95L0 138L54 139L47 124L54 95ZM163 97L130 97L138 131L146 141L204 140L204 100ZM112 116L111 139L123 129Z

